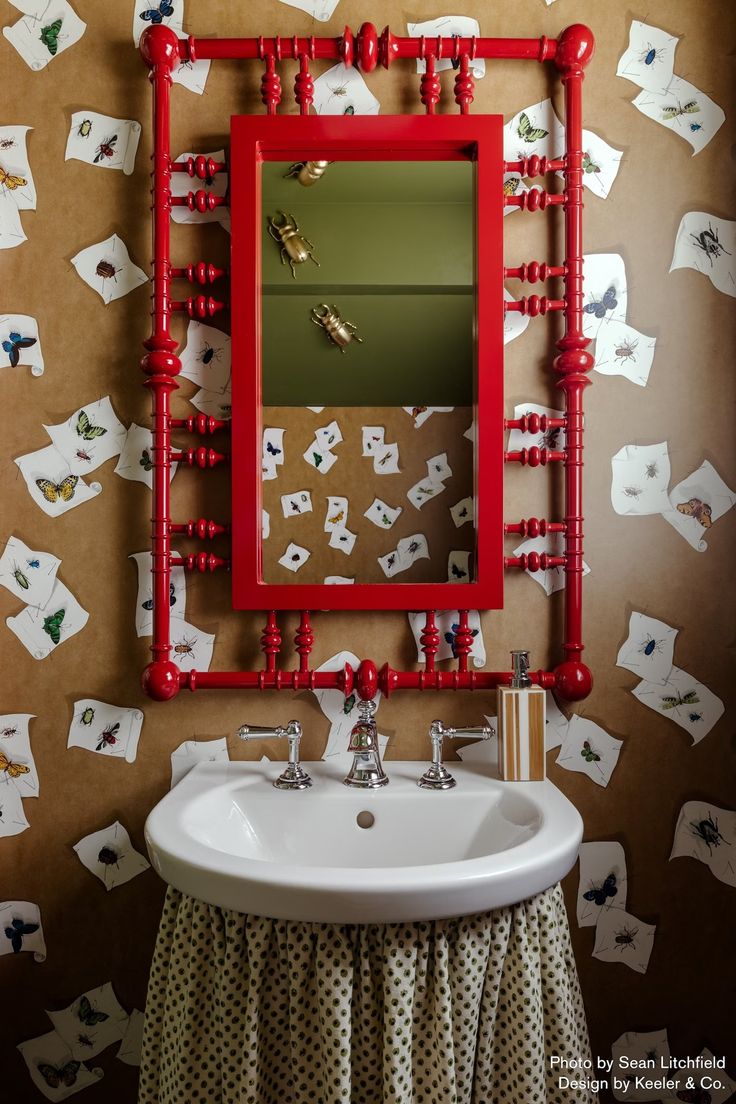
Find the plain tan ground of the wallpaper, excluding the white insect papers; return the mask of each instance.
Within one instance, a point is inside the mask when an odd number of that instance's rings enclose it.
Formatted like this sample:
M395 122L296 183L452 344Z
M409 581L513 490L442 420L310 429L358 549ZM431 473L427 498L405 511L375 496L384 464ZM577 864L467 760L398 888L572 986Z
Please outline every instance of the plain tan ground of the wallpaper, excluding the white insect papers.
M136 635L137 581L128 556L148 546L148 489L115 475L116 461L110 459L92 477L103 488L97 497L62 517L49 517L31 501L13 464L15 457L49 443L44 424L61 423L105 395L111 396L125 426L145 425L148 412L138 370L141 341L148 333L147 290L139 287L104 306L71 264L81 250L114 233L136 264L146 269L150 261L149 87L131 40L134 3L73 0L73 7L87 23L86 32L40 72L29 68L4 38L0 40L0 126L33 128L29 152L38 190L36 209L21 213L28 241L0 254L2 307L38 319L45 359L45 372L38 378L25 367L2 370L2 529L3 535L12 533L30 549L60 558L60 580L89 614L84 628L43 660L33 658L9 629L3 628L0 637L2 713L34 714L31 749L40 779L40 795L22 800L29 827L0 837L0 903L36 904L46 943L44 962L26 953L0 958L0 1085L12 1104L40 1098L15 1047L51 1030L45 1010L66 1008L81 994L108 981L127 1011L143 1007L163 885L146 870L106 892L79 861L74 845L119 820L132 846L143 851L147 813L168 790L171 752L185 740L224 736L233 758L259 757L264 752L277 758L282 754L278 744L239 745L233 732L246 721L281 722L292 715L305 726L306 757L319 757L327 739L327 721L308 693L296 701L236 693L182 694L167 705L146 700L139 671L147 661L147 640ZM622 162L607 200L586 193L586 250L623 256L628 320L657 338L646 388L619 375L594 372L586 393L586 560L590 574L585 582L585 638L596 684L590 698L572 712L598 722L622 741L619 761L609 785L601 788L589 777L557 766L556 753L548 755L551 777L580 809L585 839L617 840L623 846L629 911L657 925L646 974L593 958L594 930L578 928L575 921L577 871L567 878L594 1050L609 1055L611 1042L625 1031L666 1028L673 1052L697 1053L708 1045L715 1053L728 1053L730 1072L736 1075L736 891L716 880L704 863L669 861L684 802L700 799L725 809L736 805L732 585L736 516L730 511L715 522L707 533L707 551L696 552L661 517L621 517L610 501L610 460L628 444L666 440L671 486L704 459L732 487L736 482L734 300L692 269L669 274L685 212L734 217L734 9L727 0L648 0L640 8L619 0L558 0L550 7L543 0L514 0L506 6L468 0L462 11L476 17L484 33L498 35L522 29L529 34L555 35L576 20L593 26L598 47L585 82L585 124L622 150ZM318 24L277 0L247 4L188 0L185 29L223 36L339 34L345 23L356 30L370 19L378 26L390 22L404 33L407 20L444 13L441 7L426 4L383 2L366 8L358 0L341 0L331 21ZM18 18L13 7L3 7L6 25ZM630 102L638 87L615 75L631 19L646 19L679 35L675 72L726 110L724 126L696 157L691 157L690 147L675 134L637 112ZM320 68L314 64L316 73ZM286 88L292 73L294 67L286 65ZM215 63L203 96L174 87L174 152L226 145L231 114L260 110L259 78L257 66ZM369 84L383 113L419 109L410 66L396 64L390 73L371 75ZM444 106L449 110L454 107L449 84L445 87ZM561 89L556 82L548 83L541 67L492 62L477 84L473 107L510 118L550 94L562 115ZM89 109L142 125L131 176L64 161L70 117ZM6 202L9 189L2 191L0 199ZM559 225L541 214L513 214L505 223L508 263L561 259ZM217 225L174 226L172 240L180 264L200 258L226 262L228 240ZM221 316L218 322L227 328L226 317ZM516 403L556 404L558 392L550 372L554 329L554 322L532 321L506 348L509 414ZM175 333L183 339L181 320L175 322ZM189 400L195 390L182 381L173 399L175 414L194 412ZM226 519L227 475L179 471L172 497L178 519ZM558 509L558 481L548 473L509 471L506 517L555 516ZM3 618L22 608L18 596L0 590ZM636 677L616 666L633 611L679 629L676 665L726 705L725 716L694 745L669 716L658 715L632 697ZM227 578L191 578L186 619L198 631L214 634L213 667L259 661L263 616L230 612ZM402 614L318 614L314 625L316 664L342 647L378 664L388 659L405 666L416 658ZM535 666L556 662L561 625L559 594L548 598L525 575L510 576L505 611L483 616L489 668L505 666L511 647L527 647ZM296 618L285 616L282 628L288 639ZM78 709L75 703L85 699L143 711L135 762L67 747ZM489 696L452 694L442 700L439 711L447 722L472 724L491 705ZM418 696L397 696L382 705L381 729L391 737L387 760L426 757L427 725L437 712L436 698ZM736 847L736 840L722 846ZM84 1098L89 1104L132 1104L135 1068L118 1061L115 1048L93 1064L105 1071L105 1079L86 1089Z

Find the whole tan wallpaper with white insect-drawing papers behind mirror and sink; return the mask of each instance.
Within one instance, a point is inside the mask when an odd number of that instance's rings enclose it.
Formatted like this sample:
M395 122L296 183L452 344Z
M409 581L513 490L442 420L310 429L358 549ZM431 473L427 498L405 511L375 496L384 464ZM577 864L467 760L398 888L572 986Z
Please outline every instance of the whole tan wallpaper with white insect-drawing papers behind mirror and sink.
M722 1089L680 1098L723 1104L736 1090L736 12L728 0L466 0L460 8L2 2L0 1097L12 1104L77 1092L89 1104L136 1100L164 893L146 857L143 824L172 782L198 758L284 757L278 741L238 742L243 723L295 716L306 758L344 750L342 737L331 743L344 718L326 715L308 692L156 704L140 689L152 606L149 395L138 368L149 333L151 129L137 41L157 22L181 35L217 36L338 35L364 20L401 34L433 33L424 28L438 23L442 33L460 33L447 30L457 23L488 35L591 26L585 326L596 365L585 395L584 639L595 687L572 708L550 698L547 772L585 822L564 890L594 1054L725 1055ZM321 113L420 110L408 63L365 81L333 68L313 63ZM290 113L295 72L281 66ZM263 110L260 76L250 63L181 65L172 88L175 156L226 157L231 115ZM550 74L534 63L493 62L476 78L472 109L503 115L506 158L554 156L564 108ZM447 112L456 109L451 81L442 74ZM186 191L184 180L177 187ZM509 195L529 187L513 176L504 182ZM226 206L203 215L178 209L175 263L226 267L227 229ZM554 211L514 210L504 231L506 264L561 262ZM518 294L510 283L506 296ZM191 370L173 414L227 417L227 314L214 333L195 326L174 323ZM550 371L556 336L550 319L506 316L508 417L559 408ZM350 350L338 360L350 371ZM424 458L425 425L434 445L445 415L430 412L413 426L399 413ZM314 428L335 416L314 415ZM456 435L465 428L452 417L446 424ZM288 448L288 432L284 439ZM427 449L426 458L444 450ZM337 474L339 448L334 455ZM401 449L397 463L401 469ZM275 495L275 510L297 486ZM224 470L180 466L171 493L182 521L230 516ZM449 508L460 497L442 501ZM554 473L506 471L506 518L555 517L559 499ZM403 507L413 510L406 500ZM525 542L529 549L510 542L506 554L550 550L541 540ZM213 548L227 554L224 541ZM196 550L185 538L177 549ZM505 609L471 614L477 667L505 669L512 647L527 648L534 667L557 661L558 574L509 573ZM182 667L260 665L265 618L232 612L225 574L175 569L170 604ZM456 616L439 619L448 660ZM318 613L313 625L314 666L345 649L395 666L417 660L420 626L412 616ZM284 616L281 627L290 639L296 618ZM448 697L446 723L493 720L493 696ZM427 758L437 710L419 696L381 703L388 764Z

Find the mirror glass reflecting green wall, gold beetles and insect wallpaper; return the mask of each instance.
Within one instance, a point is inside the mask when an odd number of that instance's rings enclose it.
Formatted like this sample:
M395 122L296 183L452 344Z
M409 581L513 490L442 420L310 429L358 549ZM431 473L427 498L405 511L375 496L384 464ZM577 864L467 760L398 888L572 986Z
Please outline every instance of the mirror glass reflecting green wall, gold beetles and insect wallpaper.
M263 163L263 582L473 582L474 167L301 168Z

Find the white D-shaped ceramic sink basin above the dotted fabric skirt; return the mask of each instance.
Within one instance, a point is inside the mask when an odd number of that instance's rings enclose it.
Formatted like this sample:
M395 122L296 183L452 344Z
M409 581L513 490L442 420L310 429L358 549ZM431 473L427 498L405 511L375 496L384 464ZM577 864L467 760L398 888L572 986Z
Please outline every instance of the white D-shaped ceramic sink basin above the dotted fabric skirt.
M583 821L550 781L452 763L456 788L436 792L416 784L424 764L388 761L391 785L353 789L339 760L306 763L300 792L274 788L279 763L198 764L148 817L153 868L238 912L393 923L523 901L577 858Z

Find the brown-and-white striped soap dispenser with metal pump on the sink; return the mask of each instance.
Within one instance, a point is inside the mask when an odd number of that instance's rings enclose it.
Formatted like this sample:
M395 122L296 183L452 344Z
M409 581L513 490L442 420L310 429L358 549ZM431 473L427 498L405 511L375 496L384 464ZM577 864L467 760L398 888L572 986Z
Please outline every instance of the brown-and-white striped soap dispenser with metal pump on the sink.
M545 692L529 677L529 651L512 651L511 662L511 683L498 690L499 771L506 782L542 782Z

